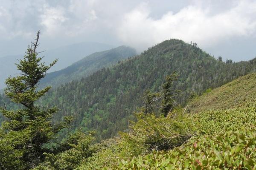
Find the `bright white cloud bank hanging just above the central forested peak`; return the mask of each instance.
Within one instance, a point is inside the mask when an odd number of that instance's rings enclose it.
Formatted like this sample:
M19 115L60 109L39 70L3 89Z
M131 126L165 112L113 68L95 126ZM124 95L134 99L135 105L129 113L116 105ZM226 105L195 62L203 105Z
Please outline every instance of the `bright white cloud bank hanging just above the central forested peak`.
M117 33L128 45L139 50L170 38L198 42L202 47L236 36L256 33L256 2L238 1L236 5L217 14L211 8L186 6L177 13L166 12L160 19L150 17L146 3L124 15Z

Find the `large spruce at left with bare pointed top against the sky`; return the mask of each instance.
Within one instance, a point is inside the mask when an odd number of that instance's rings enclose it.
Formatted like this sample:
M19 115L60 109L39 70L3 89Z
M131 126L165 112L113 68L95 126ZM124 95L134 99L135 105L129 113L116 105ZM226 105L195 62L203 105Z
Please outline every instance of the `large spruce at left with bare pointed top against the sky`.
M0 169L30 169L44 160L43 153L50 153L46 147L56 134L68 127L71 117L65 121L52 124L52 115L58 111L56 107L45 109L35 102L49 91L50 87L37 91L38 82L45 77L46 72L57 60L49 66L41 62L36 51L40 31L35 42L27 48L26 55L19 60L17 69L20 74L6 80L5 94L12 102L21 104L21 109L8 111L1 108L6 117L0 133Z

